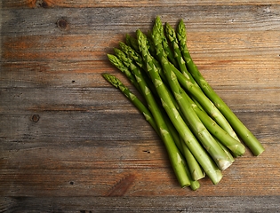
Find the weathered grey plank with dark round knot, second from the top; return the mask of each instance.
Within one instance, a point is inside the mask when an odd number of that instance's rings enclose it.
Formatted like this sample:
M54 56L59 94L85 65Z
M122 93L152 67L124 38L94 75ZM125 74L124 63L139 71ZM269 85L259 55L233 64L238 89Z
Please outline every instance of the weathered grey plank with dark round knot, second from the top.
M49 10L39 9L4 10L2 34L10 36L85 34L93 36L92 38L97 39L94 43L100 45L99 43L107 40L102 39L102 36L114 38L118 34L135 32L138 28L144 31L150 29L156 15L160 15L164 22L168 21L172 25L183 19L189 36L191 33L202 32L277 31L279 7L280 5L273 4L269 6L269 10L267 5L136 7L133 10L125 7L55 8L52 9L52 13ZM269 41L263 36L265 35L258 38ZM250 36L246 39L250 39ZM240 41L245 42L244 39Z

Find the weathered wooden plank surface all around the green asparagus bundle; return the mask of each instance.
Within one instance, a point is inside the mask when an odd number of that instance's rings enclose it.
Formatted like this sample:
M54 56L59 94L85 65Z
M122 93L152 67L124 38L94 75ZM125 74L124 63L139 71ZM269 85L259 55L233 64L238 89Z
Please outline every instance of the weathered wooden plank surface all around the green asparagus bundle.
M0 7L0 212L280 212L279 1ZM106 53L156 15L185 20L196 65L266 148L196 192L180 188L156 133L101 77L124 80Z

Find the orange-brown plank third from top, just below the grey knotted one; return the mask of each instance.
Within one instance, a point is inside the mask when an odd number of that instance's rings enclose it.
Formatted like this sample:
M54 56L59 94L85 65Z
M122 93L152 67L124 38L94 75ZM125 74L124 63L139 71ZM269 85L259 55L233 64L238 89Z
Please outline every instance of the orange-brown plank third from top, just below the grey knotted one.
M93 43L94 36L4 36L3 59L8 61L106 60L106 53L111 53L112 48L123 41L124 34L115 38L108 37L108 40L104 40L100 46ZM279 32L226 35L228 33L193 34L188 42L189 51L196 61L213 59L227 62L248 60L248 58L260 61L279 58ZM203 42L205 40L207 43Z

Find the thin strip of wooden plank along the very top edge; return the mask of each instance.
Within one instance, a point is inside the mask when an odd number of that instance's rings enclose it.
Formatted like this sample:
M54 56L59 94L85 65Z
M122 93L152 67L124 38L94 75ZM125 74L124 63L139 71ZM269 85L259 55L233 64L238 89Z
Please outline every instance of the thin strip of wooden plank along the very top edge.
M147 0L141 0L141 1L86 1L82 0L79 2L73 1L73 0L68 0L68 1L52 1L52 0L20 0L20 1L15 1L15 0L8 0L3 2L3 7L4 8L22 8L22 7L29 7L29 8L53 8L53 7L151 7L151 6L156 6L156 7L163 7L163 6L190 6L190 5L236 5L236 4L264 4L264 5L271 5L271 4L279 4L278 1L269 1L269 2L263 2L260 0L255 0L255 1L241 1L241 0L235 0L235 1L225 1L225 0L218 0L218 1L213 1L213 0L204 0L204 1L197 1L192 0L192 1L155 1L152 4L147 1Z

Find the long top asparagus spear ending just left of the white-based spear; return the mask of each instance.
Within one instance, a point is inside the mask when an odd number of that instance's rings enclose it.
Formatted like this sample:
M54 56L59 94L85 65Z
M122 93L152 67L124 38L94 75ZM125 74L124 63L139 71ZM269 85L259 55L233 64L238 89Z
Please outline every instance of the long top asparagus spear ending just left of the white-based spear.
M166 91L164 83L158 74L158 70L153 62L152 56L148 52L146 36L139 30L137 30L137 39L139 43L139 49L142 54L147 67L148 74L150 75L152 82L156 86L156 91L160 99L162 100L162 105L166 113L168 114L170 120L172 121L176 130L180 134L180 137L187 144L189 150L196 157L197 162L201 164L205 173L208 177L212 179L213 184L218 184L222 177L220 170L209 155L205 152L204 148L196 140L196 137L193 135L191 130L188 129L187 124L184 122L180 113L174 106L172 99L169 96L169 93Z

